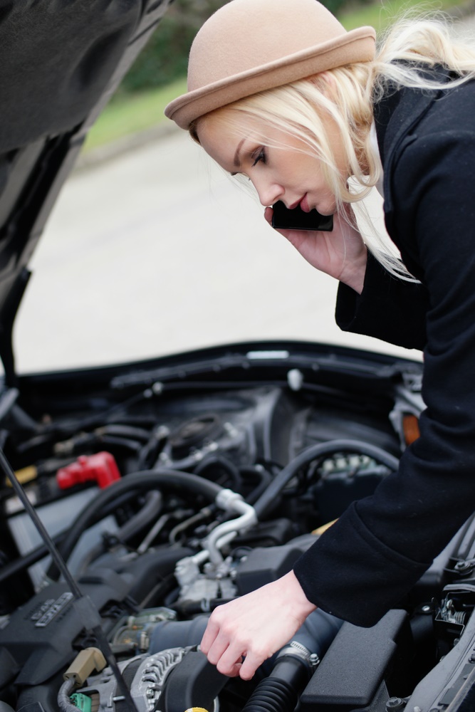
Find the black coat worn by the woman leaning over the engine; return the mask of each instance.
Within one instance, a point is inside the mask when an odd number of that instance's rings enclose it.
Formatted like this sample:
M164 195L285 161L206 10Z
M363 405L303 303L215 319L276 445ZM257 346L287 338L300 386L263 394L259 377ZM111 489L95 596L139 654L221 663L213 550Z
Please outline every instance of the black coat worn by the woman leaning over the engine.
M424 350L421 435L294 570L309 600L370 626L397 606L475 511L475 81L401 90L375 108L385 222L419 281L370 257L340 285L343 330Z

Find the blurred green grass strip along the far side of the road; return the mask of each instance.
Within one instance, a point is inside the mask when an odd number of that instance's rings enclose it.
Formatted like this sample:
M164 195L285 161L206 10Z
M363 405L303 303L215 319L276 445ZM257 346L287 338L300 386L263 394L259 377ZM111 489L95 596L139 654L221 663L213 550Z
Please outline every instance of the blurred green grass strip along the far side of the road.
M419 6L426 10L450 11L459 5L460 0L437 0L431 3L421 3L420 0L383 0L345 12L340 21L347 30L371 25L380 31L404 10ZM85 152L168 121L163 114L165 106L186 89L186 79L182 78L165 87L136 95L117 95L90 130Z

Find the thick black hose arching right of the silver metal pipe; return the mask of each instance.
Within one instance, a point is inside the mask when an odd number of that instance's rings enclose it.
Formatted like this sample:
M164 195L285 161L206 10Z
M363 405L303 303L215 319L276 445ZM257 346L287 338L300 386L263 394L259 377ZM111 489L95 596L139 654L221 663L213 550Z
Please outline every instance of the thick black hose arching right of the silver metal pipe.
M263 518L264 514L268 513L273 506L276 506L278 497L283 491L283 488L291 481L293 476L303 465L310 463L320 456L340 452L352 452L370 456L392 471L396 471L399 467L399 461L394 455L390 455L375 445L357 440L330 440L318 445L312 445L289 462L289 464L278 473L263 495L259 497L258 501L254 504L257 517L259 519Z

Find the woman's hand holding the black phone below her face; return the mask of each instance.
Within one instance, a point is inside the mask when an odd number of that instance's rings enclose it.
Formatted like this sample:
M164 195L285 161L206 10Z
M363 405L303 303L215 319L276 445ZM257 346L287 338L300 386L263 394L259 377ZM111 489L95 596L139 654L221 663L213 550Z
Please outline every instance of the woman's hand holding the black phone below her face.
M353 211L345 205L345 214L335 213L333 231L278 230L313 267L348 284L358 294L365 280L367 250L360 232L349 224ZM272 208L264 216L272 221Z

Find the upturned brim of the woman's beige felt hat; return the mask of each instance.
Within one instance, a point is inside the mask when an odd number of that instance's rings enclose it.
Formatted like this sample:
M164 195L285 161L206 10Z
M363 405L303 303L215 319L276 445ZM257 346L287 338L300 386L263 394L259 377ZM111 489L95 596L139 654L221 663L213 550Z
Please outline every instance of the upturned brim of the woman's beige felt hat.
M289 82L328 69L375 57L375 29L359 27L338 38L293 53L260 67L234 74L177 97L165 108L165 115L183 129L204 114Z

